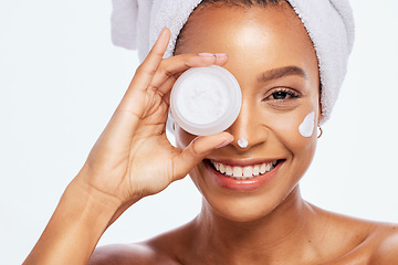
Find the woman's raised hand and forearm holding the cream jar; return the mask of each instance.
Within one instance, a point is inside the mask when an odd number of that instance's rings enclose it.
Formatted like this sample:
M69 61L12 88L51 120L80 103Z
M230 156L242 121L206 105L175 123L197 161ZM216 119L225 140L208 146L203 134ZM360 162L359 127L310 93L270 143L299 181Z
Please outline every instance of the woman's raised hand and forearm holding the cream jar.
M127 208L233 140L221 132L198 137L185 149L167 140L167 94L176 77L192 66L227 61L193 54L163 60L169 39L164 29L23 264L87 264L101 235Z

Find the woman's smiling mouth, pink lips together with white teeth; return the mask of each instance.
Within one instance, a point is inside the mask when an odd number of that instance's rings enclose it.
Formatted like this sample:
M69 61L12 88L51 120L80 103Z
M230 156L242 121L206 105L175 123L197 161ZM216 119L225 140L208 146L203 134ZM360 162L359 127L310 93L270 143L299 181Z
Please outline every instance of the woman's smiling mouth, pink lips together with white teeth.
M285 160L266 161L220 161L206 159L210 178L221 188L233 191L254 191L269 183Z

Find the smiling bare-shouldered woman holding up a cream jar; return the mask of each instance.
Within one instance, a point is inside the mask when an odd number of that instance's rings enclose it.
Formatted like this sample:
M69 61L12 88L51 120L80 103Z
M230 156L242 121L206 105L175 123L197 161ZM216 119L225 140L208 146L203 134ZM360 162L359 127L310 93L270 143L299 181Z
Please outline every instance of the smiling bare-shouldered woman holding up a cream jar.
M329 213L300 195L317 135L316 126L310 135L298 128L308 116L322 123L332 96L316 42L287 2L202 1L175 56L163 59L169 40L164 28L24 264L398 264L396 225ZM176 124L174 148L171 86L184 71L212 64L239 81L240 115L208 137ZM188 172L203 195L193 221L92 255L126 209Z

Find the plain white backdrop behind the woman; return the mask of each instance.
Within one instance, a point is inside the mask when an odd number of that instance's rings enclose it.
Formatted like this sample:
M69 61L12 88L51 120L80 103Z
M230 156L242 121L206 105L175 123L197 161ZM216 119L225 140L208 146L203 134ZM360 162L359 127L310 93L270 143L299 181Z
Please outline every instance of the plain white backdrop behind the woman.
M353 0L349 72L303 197L398 222L398 2ZM138 60L109 38L111 1L0 2L0 264L20 264L105 127ZM100 244L136 242L191 220L186 178L129 209Z

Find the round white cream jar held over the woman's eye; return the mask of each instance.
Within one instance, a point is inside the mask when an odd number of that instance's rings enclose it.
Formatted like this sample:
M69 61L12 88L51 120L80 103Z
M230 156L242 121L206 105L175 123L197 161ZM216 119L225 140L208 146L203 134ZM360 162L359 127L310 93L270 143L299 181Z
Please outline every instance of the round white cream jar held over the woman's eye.
M228 129L238 118L242 93L235 77L211 65L187 70L174 84L171 115L192 135L208 136Z

